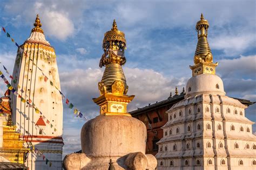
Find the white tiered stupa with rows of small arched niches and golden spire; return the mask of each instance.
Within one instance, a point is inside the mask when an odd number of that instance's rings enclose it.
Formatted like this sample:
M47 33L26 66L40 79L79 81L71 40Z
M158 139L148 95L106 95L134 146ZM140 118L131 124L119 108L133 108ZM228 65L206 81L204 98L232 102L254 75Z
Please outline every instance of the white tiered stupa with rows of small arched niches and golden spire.
M198 44L192 77L183 101L167 111L169 121L158 142L158 169L256 169L256 137L245 117L246 105L225 96L215 75L208 22L197 23Z

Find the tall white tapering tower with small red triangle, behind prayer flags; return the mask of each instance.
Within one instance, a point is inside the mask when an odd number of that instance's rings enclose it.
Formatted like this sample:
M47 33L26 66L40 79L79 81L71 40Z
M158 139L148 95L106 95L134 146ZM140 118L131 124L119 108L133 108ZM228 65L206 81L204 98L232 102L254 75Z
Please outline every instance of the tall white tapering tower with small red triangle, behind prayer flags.
M52 169L62 169L63 105L56 54L45 40L38 15L34 26L16 56L11 85L21 95L11 94L12 122L23 135L24 146L31 148L25 163L29 169L49 168L35 150L51 161Z

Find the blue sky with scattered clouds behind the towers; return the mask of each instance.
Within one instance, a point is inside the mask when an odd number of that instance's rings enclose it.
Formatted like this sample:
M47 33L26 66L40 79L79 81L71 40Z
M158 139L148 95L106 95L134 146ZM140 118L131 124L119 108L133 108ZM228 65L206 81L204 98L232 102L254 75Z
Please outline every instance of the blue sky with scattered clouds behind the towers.
M125 33L127 62L123 66L135 95L132 111L165 100L186 86L192 76L197 45L196 22L203 12L210 23L208 42L217 75L224 81L227 96L256 101L256 13L255 1L2 1L0 26L18 44L29 38L37 13L46 40L55 47L63 93L87 117L99 115L92 98L99 96L97 84L104 67L104 33L116 19ZM14 68L17 47L0 32L0 61ZM2 69L2 68L1 68ZM0 95L6 87L0 81ZM64 104L63 154L80 150L80 129L85 119L76 118ZM256 121L256 104L246 117ZM253 125L255 133L256 126Z

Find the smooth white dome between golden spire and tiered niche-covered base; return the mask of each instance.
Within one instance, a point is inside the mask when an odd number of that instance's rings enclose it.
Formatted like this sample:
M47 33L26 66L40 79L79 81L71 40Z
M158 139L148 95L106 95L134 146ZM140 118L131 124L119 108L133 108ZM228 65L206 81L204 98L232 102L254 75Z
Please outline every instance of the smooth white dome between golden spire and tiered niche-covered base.
M219 76L212 74L193 76L187 81L185 98L197 94L225 95L223 81Z

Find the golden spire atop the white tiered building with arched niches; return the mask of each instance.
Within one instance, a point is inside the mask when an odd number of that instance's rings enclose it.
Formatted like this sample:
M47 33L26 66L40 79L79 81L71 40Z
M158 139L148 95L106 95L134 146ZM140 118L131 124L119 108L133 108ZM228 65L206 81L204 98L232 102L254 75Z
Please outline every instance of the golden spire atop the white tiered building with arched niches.
M215 67L218 63L213 63L211 48L207 41L209 23L201 13L200 20L197 22L197 49L194 54L194 66L190 66L193 70L193 76L198 74L215 74Z

